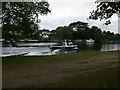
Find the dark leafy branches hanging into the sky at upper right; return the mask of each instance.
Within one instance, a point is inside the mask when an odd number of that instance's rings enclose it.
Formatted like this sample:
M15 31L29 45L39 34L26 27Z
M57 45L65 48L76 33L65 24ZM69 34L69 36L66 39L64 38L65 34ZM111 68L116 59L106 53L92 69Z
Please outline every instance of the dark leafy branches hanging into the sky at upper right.
M112 0L113 1L113 0ZM89 19L93 20L106 20L105 25L111 23L110 18L113 14L120 14L120 1L119 2L96 2L97 9L91 12Z

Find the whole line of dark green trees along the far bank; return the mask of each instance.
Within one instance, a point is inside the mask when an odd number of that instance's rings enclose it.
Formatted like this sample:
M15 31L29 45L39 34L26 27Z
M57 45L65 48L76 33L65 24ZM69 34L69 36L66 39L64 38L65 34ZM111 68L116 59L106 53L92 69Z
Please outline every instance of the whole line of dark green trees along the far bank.
M97 26L88 27L88 23L77 21L69 26L58 27L52 31L50 39L64 40L86 40L93 39L95 42L120 40L120 34L110 31L102 31Z

